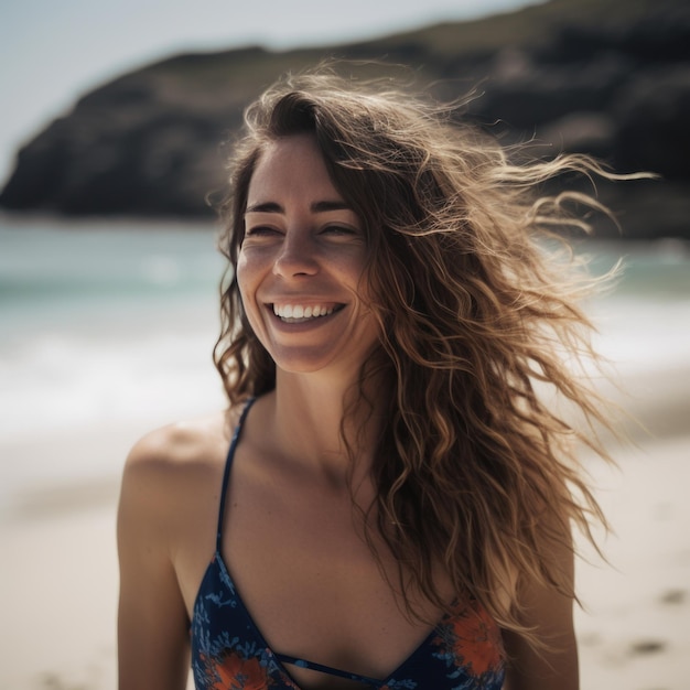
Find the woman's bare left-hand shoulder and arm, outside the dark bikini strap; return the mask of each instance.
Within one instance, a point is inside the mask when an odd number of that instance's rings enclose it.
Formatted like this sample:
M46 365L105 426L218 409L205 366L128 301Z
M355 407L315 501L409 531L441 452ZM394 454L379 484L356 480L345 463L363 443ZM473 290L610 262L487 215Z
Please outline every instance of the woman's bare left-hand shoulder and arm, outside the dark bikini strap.
M120 688L183 688L194 596L214 539L233 413L180 422L132 448L118 508Z

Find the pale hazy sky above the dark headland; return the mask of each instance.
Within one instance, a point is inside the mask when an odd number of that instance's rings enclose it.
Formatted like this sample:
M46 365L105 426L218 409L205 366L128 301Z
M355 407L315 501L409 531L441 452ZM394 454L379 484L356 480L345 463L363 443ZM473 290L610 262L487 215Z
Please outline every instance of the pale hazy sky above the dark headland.
M288 50L370 39L533 0L6 0L0 185L19 147L110 78L180 52Z

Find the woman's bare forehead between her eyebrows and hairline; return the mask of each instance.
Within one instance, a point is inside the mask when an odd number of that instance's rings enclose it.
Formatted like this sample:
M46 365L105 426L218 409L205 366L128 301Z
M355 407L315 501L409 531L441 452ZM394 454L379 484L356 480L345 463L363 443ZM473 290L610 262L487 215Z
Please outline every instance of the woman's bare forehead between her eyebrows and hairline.
M252 205L295 195L312 201L341 198L312 134L284 137L263 149L249 181L247 202Z

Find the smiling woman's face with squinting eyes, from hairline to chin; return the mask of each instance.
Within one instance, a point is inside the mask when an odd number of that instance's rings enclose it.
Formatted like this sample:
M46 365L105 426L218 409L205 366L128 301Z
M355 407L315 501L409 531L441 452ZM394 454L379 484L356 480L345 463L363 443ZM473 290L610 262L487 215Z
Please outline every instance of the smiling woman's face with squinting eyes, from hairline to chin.
M287 371L352 377L378 342L362 222L309 134L262 153L248 188L237 281L247 319Z

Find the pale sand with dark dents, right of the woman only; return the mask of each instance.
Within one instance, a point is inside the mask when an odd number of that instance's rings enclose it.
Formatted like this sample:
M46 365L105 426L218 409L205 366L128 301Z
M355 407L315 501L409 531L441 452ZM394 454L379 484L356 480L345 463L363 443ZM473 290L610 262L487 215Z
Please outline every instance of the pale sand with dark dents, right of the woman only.
M646 443L599 471L615 529L611 565L579 563L584 690L683 690L690 682L690 434Z

